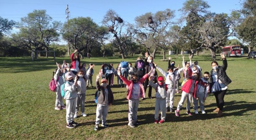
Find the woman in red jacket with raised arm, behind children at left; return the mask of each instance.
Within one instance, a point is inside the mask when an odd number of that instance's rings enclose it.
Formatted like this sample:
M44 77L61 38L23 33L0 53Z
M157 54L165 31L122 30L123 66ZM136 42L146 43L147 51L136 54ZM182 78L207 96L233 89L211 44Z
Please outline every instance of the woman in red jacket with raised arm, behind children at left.
M70 55L71 58L71 65L70 65L70 70L72 71L73 74L77 74L77 72L81 69L81 63L80 63L80 57L78 54L75 55L74 58L74 54L77 52L78 50L76 49L74 51L74 53L72 53Z

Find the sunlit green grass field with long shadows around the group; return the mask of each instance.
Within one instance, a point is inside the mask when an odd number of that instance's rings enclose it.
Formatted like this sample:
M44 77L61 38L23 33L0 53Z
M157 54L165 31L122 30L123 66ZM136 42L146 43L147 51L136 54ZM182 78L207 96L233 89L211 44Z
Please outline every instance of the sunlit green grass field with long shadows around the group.
M220 55L217 56L220 58ZM57 58L57 62L69 58ZM161 56L154 60L158 66L166 69L167 61L160 61ZM81 62L93 63L95 73L102 62L117 63L122 59L91 58ZM189 60L186 57L186 60ZM195 56L203 72L211 70L211 56ZM227 74L232 80L225 95L224 117L216 118L212 111L216 108L213 94L209 94L205 101L207 114L192 116L186 114L186 103L176 117L172 112L166 115L164 124L154 123L155 99L140 101L138 120L142 122L136 128L130 128L128 123L128 101L126 88L112 88L114 104L109 107L107 122L109 128L100 127L94 131L96 104L94 103L95 88L87 88L85 113L79 112L79 123L74 129L66 128L66 110L54 110L56 95L48 88L52 78L52 71L56 62L52 58L38 58L32 62L31 58L0 58L0 139L256 139L256 86L255 59L246 57L228 58ZM136 57L128 58L134 62ZM181 65L179 56L176 66ZM221 65L222 62L218 60ZM158 72L158 71L157 71ZM158 72L158 75L161 75ZM95 81L96 74L93 75ZM180 80L181 81L181 80ZM116 77L114 79L116 84ZM95 86L95 82L93 82ZM152 90L152 96L155 91ZM146 92L147 97L148 89ZM176 108L181 94L176 94L174 107ZM64 100L65 103L65 100ZM200 110L200 109L199 109Z

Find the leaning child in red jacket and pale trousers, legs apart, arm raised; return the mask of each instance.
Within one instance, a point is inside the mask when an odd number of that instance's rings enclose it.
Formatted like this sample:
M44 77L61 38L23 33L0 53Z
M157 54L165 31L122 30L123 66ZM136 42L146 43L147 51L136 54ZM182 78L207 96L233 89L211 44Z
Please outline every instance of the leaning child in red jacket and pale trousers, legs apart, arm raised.
M180 109L183 103L185 102L186 98L187 98L187 114L190 116L192 115L190 112L190 103L192 101L192 95L196 93L196 88L197 88L197 83L199 78L199 75L197 73L189 77L188 67L185 67L184 69L185 69L184 71L185 71L186 82L181 88L182 93L181 93L180 102L177 106L177 110L175 110L176 116L180 116Z

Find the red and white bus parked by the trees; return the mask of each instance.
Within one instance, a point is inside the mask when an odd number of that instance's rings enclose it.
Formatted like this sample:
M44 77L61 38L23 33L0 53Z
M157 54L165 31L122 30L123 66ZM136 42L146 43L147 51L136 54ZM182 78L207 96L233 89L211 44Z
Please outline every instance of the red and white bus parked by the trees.
M227 56L241 56L241 47L234 45L234 46L225 46L222 47L222 53Z

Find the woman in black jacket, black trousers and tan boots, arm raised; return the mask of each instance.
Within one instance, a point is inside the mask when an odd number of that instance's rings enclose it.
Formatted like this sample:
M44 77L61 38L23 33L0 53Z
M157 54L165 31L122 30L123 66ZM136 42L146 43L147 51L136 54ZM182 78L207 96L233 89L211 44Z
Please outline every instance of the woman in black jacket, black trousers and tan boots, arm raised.
M212 61L212 70L210 75L210 86L211 93L214 93L217 103L217 108L213 112L218 112L217 117L221 117L222 109L224 106L224 96L228 89L228 84L232 81L228 78L226 74L226 69L228 67L228 62L225 56L220 53L223 65L218 66L217 61Z

